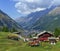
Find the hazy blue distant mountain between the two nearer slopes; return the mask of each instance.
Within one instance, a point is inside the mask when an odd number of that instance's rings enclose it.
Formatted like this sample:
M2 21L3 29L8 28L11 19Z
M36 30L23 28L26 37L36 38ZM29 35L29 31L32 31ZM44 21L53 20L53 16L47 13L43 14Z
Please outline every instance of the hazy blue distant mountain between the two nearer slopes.
M22 25L23 28L25 29L30 29L31 26L39 20L40 17L46 15L49 11L51 11L54 7L51 7L50 9L45 9L43 11L37 11L33 12L26 17L20 17L16 19L16 22L18 22L20 25ZM23 21L22 21L23 20Z

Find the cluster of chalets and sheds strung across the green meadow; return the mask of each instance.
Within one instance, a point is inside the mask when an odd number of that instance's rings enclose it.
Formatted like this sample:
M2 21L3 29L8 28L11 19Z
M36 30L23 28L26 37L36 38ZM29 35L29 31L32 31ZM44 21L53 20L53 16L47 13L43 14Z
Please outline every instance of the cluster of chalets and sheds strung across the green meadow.
M40 32L39 34L37 34L35 37L31 37L31 38L27 38L27 37L22 37L21 35L17 35L19 34L19 32L15 32L16 35L8 35L8 39L12 39L12 40L17 40L19 41L19 39L22 39L25 43L27 43L28 46L31 47L38 47L40 45L44 45L44 43L49 43L51 45L56 45L57 42L60 41L60 37L55 37L54 34L50 31L43 31Z

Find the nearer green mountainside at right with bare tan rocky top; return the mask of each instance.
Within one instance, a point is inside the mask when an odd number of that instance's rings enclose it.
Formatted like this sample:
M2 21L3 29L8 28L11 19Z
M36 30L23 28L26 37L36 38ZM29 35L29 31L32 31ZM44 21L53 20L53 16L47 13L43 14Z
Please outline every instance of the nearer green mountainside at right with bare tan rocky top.
M60 7L55 7L48 14L41 17L32 27L34 30L54 31L60 27Z

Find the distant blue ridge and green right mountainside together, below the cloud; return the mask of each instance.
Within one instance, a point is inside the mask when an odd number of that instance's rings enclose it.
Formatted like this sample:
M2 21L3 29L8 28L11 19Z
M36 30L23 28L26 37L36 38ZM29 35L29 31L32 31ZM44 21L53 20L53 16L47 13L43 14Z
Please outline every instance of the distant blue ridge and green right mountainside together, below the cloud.
M28 30L54 31L55 28L60 27L60 7L52 6L43 11L31 13L26 17L17 18L16 22Z

